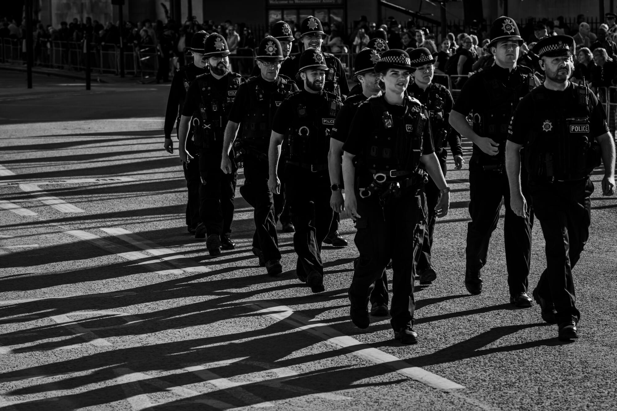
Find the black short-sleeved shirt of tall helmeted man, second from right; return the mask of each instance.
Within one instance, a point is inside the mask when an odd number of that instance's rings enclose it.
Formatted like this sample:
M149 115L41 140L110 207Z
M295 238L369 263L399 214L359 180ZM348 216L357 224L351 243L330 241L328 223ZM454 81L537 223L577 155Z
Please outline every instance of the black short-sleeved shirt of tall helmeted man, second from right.
M518 70L520 70L519 66L516 66L510 72L508 68L499 67L499 65L495 64L482 71L497 78L504 86L511 88L521 84L521 77ZM527 68L524 68L524 70L527 70ZM454 104L453 110L462 115L468 115L472 110L482 112L484 104L488 102L485 96L486 93L491 93L491 90L484 89L484 78L479 75L479 73L474 74L465 81L465 85L463 85L463 89L458 96L457 102Z

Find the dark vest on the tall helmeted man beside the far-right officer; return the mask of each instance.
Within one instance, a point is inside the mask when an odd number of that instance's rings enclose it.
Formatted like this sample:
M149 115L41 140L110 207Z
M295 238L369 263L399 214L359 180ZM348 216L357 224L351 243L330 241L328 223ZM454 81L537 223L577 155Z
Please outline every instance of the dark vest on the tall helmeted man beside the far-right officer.
M481 137L491 138L495 143L499 143L499 152L496 156L489 156L474 144L471 160L481 165L505 164L505 142L512 114L520 99L536 87L531 69L517 66L516 70L520 81L511 86L505 86L492 75L491 70L476 73L482 76L484 85L483 90L478 90L478 93L484 91L486 101L482 111L473 112L473 131Z

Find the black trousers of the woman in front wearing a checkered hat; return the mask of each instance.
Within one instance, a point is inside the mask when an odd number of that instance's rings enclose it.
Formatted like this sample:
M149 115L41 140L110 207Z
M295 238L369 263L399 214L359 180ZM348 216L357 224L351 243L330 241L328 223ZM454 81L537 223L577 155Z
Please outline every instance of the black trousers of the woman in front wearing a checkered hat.
M398 199L379 205L376 198L358 196L355 244L360 260L355 265L349 298L365 307L376 281L392 259L392 304L390 323L394 330L413 324L413 282L423 241L426 201L421 189L410 190ZM410 252L411 251L411 252Z

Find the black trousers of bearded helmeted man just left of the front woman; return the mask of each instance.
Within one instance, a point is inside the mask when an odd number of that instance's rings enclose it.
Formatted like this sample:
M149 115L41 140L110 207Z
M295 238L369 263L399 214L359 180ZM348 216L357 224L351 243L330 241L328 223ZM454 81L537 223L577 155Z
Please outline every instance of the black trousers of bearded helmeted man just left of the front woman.
M328 235L333 210L330 207L328 170L313 173L287 164L285 193L291 222L296 227L294 250L298 255L296 273L305 278L310 272L323 275L321 243Z

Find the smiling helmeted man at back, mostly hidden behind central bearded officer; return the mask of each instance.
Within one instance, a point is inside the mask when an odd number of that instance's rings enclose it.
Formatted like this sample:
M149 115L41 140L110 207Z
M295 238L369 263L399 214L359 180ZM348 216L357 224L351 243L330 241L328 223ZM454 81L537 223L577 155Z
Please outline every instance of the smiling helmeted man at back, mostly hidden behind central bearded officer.
M326 33L323 32L321 22L317 17L310 15L302 21L300 25L300 41L304 43L304 48L316 48L321 50L323 40ZM325 64L328 65L328 72L326 72L326 83L324 85L325 91L334 93L339 98L345 99L349 94L349 85L347 85L347 73L343 67L341 60L339 60L334 54L323 53L326 57ZM291 78L295 78L296 72L299 69L298 59L300 53L289 56L281 67L281 74ZM299 87L302 88L302 84L299 83ZM347 240L342 238L339 234L339 222L341 216L338 213L334 214L332 225L328 231L328 235L324 239L324 243L331 244L334 247L346 247Z

